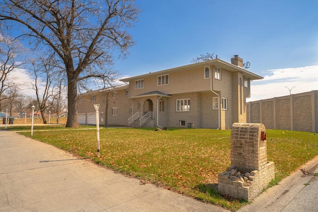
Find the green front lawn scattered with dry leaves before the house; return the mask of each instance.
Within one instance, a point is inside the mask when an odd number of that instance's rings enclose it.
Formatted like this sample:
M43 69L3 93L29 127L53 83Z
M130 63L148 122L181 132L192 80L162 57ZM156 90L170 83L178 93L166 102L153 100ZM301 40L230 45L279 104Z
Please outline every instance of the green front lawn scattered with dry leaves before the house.
M29 132L20 132L30 136ZM232 211L247 204L221 196L218 174L230 166L230 130L100 129L100 158L96 130L34 131L33 139L50 143L143 182L192 196ZM275 181L287 177L318 155L318 135L267 130L267 156L275 162Z

